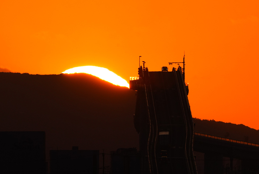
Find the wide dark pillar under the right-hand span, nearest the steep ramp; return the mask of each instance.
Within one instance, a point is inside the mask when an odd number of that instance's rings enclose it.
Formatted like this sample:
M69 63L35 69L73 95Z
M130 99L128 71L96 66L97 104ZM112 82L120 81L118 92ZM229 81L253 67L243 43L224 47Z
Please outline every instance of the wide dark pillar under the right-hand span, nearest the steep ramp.
M204 174L223 173L223 156L218 153L207 152L204 154Z

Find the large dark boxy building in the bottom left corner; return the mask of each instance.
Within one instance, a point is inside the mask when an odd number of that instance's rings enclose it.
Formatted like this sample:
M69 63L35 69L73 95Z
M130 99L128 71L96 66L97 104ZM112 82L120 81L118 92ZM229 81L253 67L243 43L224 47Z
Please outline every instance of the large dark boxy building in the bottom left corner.
M0 132L0 173L45 174L45 132Z

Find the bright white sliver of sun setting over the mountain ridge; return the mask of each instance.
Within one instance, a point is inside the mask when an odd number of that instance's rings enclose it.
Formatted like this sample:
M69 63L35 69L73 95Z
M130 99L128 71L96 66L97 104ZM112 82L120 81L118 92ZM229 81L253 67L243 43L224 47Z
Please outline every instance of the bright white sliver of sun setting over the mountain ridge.
M114 85L125 86L130 88L130 85L126 80L115 74L114 72L98 66L79 66L68 69L62 73L72 74L72 73L87 73L99 77L105 81L108 81Z

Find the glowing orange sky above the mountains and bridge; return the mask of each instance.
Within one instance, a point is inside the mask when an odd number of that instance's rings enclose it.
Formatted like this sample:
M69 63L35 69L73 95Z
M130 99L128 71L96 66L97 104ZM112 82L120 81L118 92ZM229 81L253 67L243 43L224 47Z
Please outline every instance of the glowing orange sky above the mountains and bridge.
M259 1L0 1L0 68L105 67L126 80L182 62L192 116L259 129ZM177 65L174 65L175 67Z

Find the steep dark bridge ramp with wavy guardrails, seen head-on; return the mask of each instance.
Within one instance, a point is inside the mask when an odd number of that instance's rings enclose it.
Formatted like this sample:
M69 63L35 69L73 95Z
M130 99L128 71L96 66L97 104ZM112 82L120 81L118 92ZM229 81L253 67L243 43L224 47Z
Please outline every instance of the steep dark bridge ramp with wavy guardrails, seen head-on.
M146 157L143 173L196 174L194 127L181 67L172 72L141 67L140 73L141 79L132 80L130 89L138 91L134 123Z

